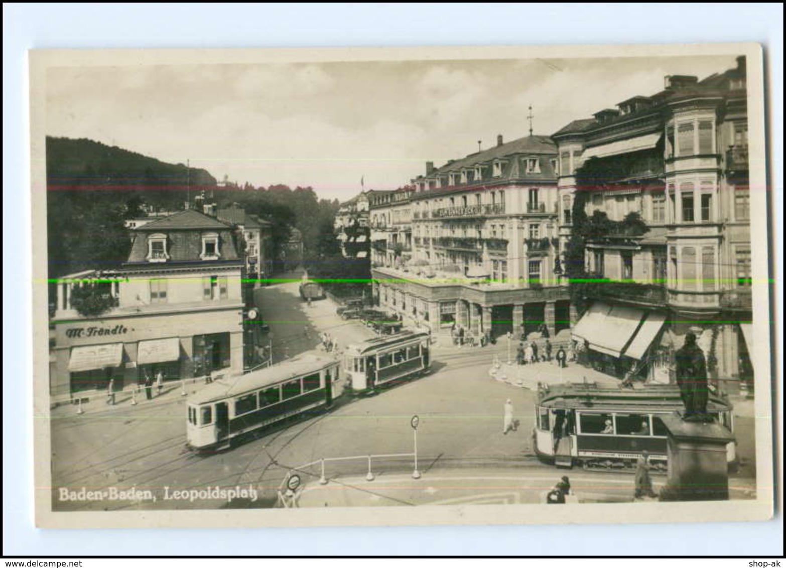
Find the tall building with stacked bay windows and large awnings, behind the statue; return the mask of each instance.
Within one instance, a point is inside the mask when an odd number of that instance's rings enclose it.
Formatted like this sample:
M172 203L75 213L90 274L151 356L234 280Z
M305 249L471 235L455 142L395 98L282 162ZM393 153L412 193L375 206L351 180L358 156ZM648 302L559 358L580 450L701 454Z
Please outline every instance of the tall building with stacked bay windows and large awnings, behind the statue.
M578 192L587 215L636 212L644 234L586 243L598 286L575 339L593 366L674 380L674 351L696 333L715 379L752 379L751 239L745 60L701 81L670 75L648 97L578 119L553 134L559 152L564 254ZM589 172L589 173L587 173Z

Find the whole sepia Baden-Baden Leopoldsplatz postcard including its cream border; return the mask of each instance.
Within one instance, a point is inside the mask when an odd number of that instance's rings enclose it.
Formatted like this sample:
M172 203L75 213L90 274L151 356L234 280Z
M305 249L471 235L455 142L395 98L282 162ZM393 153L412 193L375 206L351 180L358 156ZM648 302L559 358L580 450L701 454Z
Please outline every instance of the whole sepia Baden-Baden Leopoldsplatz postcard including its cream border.
M38 526L773 514L760 46L29 60Z

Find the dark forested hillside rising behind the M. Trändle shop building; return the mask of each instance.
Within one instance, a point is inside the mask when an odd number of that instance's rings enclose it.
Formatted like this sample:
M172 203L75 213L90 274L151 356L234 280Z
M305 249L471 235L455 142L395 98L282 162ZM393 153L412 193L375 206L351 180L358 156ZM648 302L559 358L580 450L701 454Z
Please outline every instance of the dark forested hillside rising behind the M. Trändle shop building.
M46 137L50 278L113 268L128 257L123 220L143 204L178 210L190 195L215 188L205 170L81 138Z

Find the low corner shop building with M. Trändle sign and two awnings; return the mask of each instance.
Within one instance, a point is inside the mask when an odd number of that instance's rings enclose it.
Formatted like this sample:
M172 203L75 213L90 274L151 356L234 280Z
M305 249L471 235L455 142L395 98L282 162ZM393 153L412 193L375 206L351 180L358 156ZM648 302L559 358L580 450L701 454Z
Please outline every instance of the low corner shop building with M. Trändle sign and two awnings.
M244 258L233 228L187 210L132 231L127 262L57 284L50 391L54 396L144 380L243 372ZM75 310L74 289L97 284L111 307Z

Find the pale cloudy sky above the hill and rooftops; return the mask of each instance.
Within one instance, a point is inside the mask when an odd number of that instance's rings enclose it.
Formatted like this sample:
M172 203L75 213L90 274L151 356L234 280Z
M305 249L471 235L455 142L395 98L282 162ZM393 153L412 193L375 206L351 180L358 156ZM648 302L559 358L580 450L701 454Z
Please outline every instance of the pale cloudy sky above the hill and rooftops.
M553 134L664 75L734 57L358 61L51 68L46 134L86 137L253 185L310 185L347 200L395 189L483 148Z

